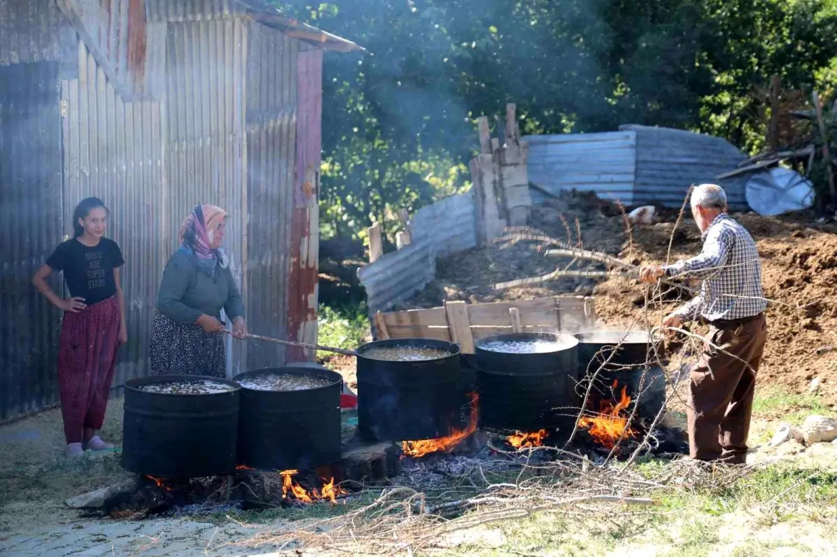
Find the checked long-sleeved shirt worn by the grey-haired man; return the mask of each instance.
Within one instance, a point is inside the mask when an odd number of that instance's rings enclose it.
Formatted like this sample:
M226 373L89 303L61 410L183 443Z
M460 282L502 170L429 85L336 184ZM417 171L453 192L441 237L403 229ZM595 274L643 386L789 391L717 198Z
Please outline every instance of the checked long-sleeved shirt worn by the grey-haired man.
M700 255L664 267L669 277L703 279L700 293L675 314L684 321L699 315L715 321L743 319L763 312L768 303L762 292L762 264L747 230L727 213L721 213L701 239Z

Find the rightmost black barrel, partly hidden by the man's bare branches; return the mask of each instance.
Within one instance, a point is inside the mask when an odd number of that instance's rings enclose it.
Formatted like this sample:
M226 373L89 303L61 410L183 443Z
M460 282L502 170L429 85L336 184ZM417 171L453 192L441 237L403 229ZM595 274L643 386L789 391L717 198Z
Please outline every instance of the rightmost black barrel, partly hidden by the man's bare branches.
M636 416L654 418L665 403L665 374L656 364L661 341L644 331L597 331L578 333L578 362L583 396L593 381L593 408L602 397L619 398L623 387L639 408ZM615 386L615 388L614 388Z

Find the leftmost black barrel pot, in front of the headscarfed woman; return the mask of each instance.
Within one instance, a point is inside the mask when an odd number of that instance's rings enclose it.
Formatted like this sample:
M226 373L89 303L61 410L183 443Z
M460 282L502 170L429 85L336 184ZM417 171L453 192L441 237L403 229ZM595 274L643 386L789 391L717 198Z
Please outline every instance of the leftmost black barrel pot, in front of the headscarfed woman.
M233 389L195 395L141 390L171 381L211 381ZM215 377L151 376L126 381L122 468L161 478L233 472L240 390L233 381Z

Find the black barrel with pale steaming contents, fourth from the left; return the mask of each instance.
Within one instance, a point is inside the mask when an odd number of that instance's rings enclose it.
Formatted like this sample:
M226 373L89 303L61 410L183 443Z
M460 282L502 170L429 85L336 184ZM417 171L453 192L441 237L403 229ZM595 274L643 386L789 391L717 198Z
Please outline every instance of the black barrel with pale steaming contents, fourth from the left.
M495 341L543 340L554 350L512 353L486 350ZM475 345L480 425L534 432L572 432L578 416L578 340L569 335L514 333L478 340Z

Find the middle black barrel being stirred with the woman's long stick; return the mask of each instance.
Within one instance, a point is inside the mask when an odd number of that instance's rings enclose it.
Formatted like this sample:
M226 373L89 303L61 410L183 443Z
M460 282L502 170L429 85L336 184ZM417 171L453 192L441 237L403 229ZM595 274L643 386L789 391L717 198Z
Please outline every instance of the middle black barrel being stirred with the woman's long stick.
M435 360L389 361L364 356L372 348L422 346L445 350ZM462 427L460 348L444 340L378 340L357 349L357 431L365 441L446 437Z

